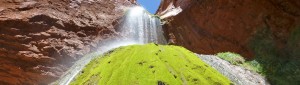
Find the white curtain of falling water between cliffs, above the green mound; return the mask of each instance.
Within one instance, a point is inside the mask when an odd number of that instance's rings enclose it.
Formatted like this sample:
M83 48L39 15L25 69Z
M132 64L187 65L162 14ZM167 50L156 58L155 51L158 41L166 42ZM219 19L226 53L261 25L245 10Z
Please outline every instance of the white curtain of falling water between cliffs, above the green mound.
M158 44L167 43L160 25L160 19L150 15L142 7L136 6L129 9L122 22L118 30L129 41L141 44L151 42Z

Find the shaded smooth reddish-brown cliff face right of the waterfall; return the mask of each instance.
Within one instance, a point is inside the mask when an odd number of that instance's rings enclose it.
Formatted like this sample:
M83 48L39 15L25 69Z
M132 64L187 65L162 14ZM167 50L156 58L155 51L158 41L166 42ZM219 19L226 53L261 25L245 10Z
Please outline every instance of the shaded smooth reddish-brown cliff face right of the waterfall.
M251 42L265 29L270 36L263 37L273 39L276 49L286 47L291 33L299 30L300 1L162 0L157 14L177 45L196 53L231 51L252 58L256 44Z

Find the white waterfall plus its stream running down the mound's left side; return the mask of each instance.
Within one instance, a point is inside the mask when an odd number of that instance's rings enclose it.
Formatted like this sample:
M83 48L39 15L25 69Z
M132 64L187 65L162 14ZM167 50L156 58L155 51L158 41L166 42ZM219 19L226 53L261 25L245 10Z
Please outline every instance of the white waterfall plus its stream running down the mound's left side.
M117 27L120 37L101 41L99 50L78 60L55 84L68 85L93 58L114 48L132 44L166 44L158 17L150 15L144 8L131 7Z

